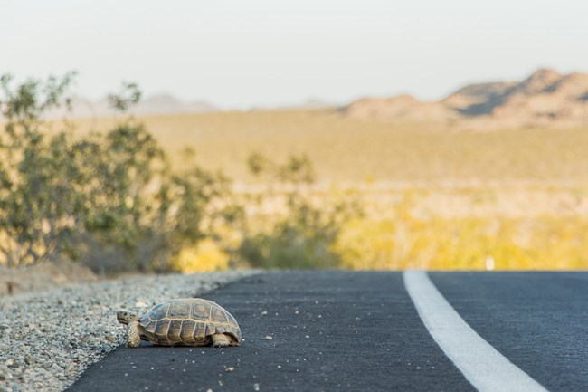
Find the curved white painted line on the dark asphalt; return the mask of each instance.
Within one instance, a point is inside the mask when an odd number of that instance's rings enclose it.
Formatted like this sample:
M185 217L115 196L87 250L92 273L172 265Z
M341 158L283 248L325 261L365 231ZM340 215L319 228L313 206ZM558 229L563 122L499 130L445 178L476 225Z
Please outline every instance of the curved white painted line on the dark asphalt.
M406 271L403 279L432 338L476 389L480 392L546 391L480 338L443 298L426 272Z

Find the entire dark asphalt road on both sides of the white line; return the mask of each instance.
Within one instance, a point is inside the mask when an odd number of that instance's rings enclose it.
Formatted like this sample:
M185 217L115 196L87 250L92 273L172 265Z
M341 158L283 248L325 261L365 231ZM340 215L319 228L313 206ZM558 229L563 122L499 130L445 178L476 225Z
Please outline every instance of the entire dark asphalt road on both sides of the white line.
M521 390L588 391L588 273L429 276L461 322L528 378L526 385L539 386ZM428 330L442 328L425 326L425 308L417 311L405 279L402 272L268 272L233 282L205 298L239 321L242 346L121 347L71 391L476 390L459 350L456 357ZM468 352L469 344L460 349ZM485 360L466 358L465 368ZM492 375L495 365L488 366Z

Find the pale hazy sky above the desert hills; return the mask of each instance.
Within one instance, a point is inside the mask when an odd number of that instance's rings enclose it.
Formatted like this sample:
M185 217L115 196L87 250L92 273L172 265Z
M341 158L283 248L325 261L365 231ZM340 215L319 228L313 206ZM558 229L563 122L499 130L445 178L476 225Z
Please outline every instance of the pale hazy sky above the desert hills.
M0 73L224 108L588 72L584 0L0 0Z

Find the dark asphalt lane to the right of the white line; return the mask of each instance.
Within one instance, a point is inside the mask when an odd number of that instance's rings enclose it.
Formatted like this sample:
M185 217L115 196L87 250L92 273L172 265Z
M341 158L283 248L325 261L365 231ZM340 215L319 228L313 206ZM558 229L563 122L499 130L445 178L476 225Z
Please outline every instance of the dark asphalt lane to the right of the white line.
M552 391L588 391L588 272L437 272L470 327Z

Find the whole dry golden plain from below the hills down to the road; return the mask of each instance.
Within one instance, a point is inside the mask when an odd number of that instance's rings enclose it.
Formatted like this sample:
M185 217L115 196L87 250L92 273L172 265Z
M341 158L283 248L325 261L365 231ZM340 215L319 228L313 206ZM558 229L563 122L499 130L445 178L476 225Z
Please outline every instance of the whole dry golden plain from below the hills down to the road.
M193 147L205 167L249 184L240 189L253 188L251 152L308 154L318 196L328 203L351 188L367 208L336 246L348 268L588 268L588 127L452 131L332 110L142 120L175 165ZM78 121L86 130L113 123Z

